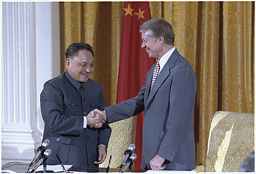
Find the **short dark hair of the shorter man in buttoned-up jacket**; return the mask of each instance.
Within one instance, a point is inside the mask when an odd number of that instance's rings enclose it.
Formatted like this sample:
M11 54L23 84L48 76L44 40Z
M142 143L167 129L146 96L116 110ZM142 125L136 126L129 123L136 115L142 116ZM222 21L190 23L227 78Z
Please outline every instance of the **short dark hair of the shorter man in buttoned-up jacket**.
M86 43L73 43L71 45L69 45L69 47L67 48L67 51L65 53L66 59L73 59L73 57L78 55L78 52L80 50L87 50L90 51L94 57L94 53L93 53L93 48Z

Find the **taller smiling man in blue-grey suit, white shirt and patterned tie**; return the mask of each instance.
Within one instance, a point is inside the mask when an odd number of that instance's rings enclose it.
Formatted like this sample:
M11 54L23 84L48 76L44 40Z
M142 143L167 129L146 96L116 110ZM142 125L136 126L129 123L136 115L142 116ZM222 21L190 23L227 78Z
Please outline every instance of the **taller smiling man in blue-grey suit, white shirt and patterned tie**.
M174 47L174 31L168 22L148 20L140 32L141 47L150 58L158 59L148 71L146 83L135 98L106 107L103 112L95 109L92 114L104 115L112 123L144 111L141 168L195 169L194 70Z

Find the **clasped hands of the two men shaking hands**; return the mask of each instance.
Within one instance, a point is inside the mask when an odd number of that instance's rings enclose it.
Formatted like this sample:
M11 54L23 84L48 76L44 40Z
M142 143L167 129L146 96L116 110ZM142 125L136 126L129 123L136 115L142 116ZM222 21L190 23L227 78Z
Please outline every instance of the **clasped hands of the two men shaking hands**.
M99 109L94 109L86 116L86 120L87 125L91 128L101 128L102 124L107 121L107 116L105 112L100 111Z

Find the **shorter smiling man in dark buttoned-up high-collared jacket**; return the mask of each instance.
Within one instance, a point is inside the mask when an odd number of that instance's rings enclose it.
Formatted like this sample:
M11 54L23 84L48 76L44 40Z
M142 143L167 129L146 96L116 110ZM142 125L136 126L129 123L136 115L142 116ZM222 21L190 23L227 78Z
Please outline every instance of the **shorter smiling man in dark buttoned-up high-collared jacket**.
M88 114L105 107L102 86L89 79L93 56L90 45L71 44L66 52L67 71L44 84L40 99L43 141L50 140L47 149L52 150L49 165L60 164L58 155L63 164L95 167L107 156L111 128L103 124L105 117Z

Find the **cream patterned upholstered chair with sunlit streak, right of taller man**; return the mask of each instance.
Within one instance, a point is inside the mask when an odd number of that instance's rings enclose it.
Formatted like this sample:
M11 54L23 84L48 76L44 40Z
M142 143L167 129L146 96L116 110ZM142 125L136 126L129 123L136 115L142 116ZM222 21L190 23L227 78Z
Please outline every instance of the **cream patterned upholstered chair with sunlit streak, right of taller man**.
M238 172L251 152L254 152L254 114L218 111L212 118L205 165L195 170Z

